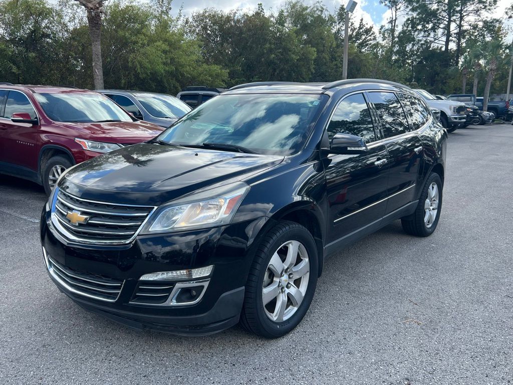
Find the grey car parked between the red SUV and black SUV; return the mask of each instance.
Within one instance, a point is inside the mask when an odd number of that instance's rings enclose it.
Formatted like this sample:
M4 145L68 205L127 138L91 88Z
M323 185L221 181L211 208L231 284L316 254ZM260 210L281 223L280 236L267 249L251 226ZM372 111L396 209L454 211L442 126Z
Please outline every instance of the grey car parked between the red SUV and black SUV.
M165 93L144 91L98 90L135 118L168 128L191 108L181 100Z

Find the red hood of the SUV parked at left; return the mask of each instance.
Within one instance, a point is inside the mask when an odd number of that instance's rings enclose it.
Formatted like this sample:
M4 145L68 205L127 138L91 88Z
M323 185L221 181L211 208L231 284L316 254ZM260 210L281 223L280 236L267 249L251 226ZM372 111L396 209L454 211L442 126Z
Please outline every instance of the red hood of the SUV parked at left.
M97 142L135 144L148 141L164 129L156 124L138 122L110 123L55 123L57 126L73 130L76 138Z

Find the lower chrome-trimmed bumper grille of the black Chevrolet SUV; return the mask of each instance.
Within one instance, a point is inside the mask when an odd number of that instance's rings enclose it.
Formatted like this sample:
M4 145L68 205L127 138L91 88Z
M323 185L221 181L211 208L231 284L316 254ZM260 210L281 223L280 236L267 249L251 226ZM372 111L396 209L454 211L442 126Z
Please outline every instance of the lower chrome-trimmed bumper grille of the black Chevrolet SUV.
M114 302L121 293L123 281L63 266L46 252L45 259L51 276L72 293L107 302Z

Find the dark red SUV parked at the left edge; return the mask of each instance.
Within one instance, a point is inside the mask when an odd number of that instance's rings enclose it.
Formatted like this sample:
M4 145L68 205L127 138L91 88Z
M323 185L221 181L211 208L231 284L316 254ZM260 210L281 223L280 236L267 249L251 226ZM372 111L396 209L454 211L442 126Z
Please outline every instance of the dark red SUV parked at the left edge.
M0 85L0 173L42 184L47 194L73 164L162 131L95 91Z

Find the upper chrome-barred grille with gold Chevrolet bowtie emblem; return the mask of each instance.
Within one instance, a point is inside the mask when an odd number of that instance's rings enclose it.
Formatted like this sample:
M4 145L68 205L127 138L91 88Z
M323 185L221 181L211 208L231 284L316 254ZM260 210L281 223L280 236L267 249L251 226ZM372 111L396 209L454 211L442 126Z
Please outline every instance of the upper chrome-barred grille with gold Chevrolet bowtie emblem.
M67 239L83 243L123 244L135 237L154 208L95 202L58 190L52 219ZM87 219L72 221L74 214L78 216L75 218Z

